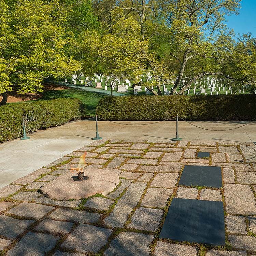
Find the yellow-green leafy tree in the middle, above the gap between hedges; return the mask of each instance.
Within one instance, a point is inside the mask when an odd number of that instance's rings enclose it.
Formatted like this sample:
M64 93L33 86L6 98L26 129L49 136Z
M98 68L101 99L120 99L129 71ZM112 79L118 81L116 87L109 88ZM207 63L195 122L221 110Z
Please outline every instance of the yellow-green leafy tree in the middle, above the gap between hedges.
M140 41L140 25L132 18L125 18L120 9L114 17L111 33L86 31L76 47L83 73L106 74L111 92L118 79L137 79L140 70L145 68L148 52L148 41Z

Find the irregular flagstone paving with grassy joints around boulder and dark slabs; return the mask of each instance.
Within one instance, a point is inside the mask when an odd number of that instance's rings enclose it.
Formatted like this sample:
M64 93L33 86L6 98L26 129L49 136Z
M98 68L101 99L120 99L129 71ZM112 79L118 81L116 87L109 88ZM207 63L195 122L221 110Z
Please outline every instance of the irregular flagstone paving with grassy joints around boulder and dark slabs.
M40 187L76 168L108 168L120 183L106 196L51 200ZM197 152L210 152L198 159ZM221 188L182 186L185 165L220 166ZM115 170L113 170L115 169ZM84 181L86 182L86 181ZM159 239L173 198L223 201L226 245ZM0 255L256 255L256 147L218 141L101 140L0 189Z

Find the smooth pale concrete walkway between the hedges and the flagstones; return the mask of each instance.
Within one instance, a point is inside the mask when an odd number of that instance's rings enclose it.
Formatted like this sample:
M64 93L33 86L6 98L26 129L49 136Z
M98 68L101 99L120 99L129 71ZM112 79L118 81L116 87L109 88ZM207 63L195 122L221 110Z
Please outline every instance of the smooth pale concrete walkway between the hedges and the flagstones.
M103 139L163 140L175 137L174 121L156 122L99 122ZM230 129L246 122L191 122L201 128ZM125 125L125 124L134 124ZM146 124L140 125L138 124ZM222 140L229 142L255 142L256 122L231 131L207 131L179 122L179 135L186 140ZM88 145L95 137L95 121L79 120L65 125L37 131L29 140L12 140L0 144L0 187L47 165L73 150Z

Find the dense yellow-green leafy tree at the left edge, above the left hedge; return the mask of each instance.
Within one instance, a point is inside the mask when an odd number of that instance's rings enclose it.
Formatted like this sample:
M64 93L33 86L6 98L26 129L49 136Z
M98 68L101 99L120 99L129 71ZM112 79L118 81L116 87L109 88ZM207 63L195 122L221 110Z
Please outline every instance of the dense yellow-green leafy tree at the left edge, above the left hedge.
M1 1L0 94L43 91L47 77L65 77L79 62L65 52L67 10L58 1Z

